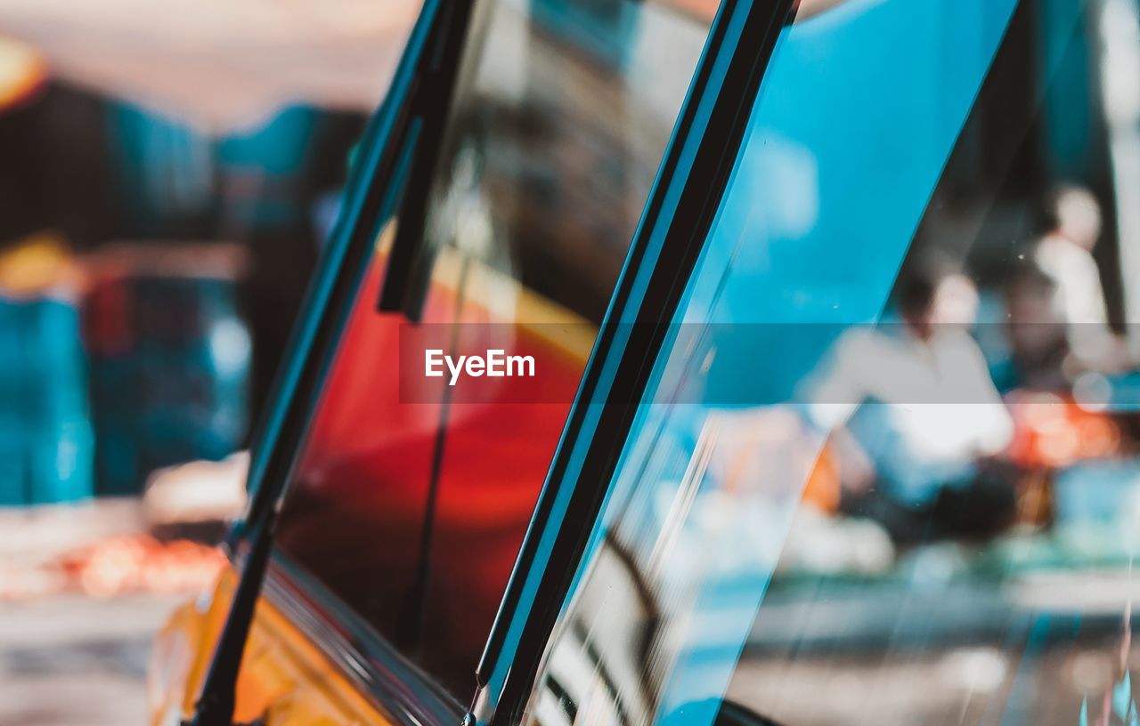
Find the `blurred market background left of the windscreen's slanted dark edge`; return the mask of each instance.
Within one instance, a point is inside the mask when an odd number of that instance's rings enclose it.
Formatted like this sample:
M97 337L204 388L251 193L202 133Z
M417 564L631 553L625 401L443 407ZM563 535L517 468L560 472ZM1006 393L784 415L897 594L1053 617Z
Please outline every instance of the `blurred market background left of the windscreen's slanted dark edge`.
M0 723L144 720L417 6L0 2Z

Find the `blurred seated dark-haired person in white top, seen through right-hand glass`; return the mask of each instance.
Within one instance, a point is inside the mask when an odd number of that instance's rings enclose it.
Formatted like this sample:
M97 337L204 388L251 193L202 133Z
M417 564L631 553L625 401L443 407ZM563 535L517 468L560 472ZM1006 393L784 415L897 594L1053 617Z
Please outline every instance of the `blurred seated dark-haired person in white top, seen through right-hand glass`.
M1013 426L967 330L977 290L917 266L896 299L902 324L846 332L809 390L808 418L848 469L840 511L898 544L993 536L1015 512L1011 477L993 463Z

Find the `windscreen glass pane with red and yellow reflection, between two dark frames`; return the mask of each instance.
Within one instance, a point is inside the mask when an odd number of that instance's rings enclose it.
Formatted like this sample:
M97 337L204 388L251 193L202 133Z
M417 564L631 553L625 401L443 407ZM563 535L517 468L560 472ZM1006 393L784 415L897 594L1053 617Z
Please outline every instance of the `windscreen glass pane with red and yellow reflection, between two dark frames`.
M416 329L442 330L445 347L494 329L553 350L572 393L707 26L656 2L479 3L414 266ZM401 389L407 321L376 312L392 237L358 292L277 544L465 699L570 398Z

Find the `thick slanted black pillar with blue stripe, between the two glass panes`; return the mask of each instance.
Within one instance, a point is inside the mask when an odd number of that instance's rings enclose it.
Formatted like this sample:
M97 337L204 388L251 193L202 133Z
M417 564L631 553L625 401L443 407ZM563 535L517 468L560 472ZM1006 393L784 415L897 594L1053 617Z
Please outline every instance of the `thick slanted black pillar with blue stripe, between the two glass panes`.
M583 374L465 724L514 724L694 265L739 163L762 81L798 0L723 0Z

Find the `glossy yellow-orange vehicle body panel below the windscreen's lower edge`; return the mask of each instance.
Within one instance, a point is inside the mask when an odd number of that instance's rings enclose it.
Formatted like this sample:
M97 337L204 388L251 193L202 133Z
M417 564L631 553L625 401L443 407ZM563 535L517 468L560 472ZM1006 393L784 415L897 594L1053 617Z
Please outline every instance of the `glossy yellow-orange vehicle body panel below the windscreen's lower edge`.
M212 596L176 610L158 634L147 684L154 726L177 725L192 713L236 581L234 570L223 571ZM267 726L391 723L264 599L245 650L235 716Z

